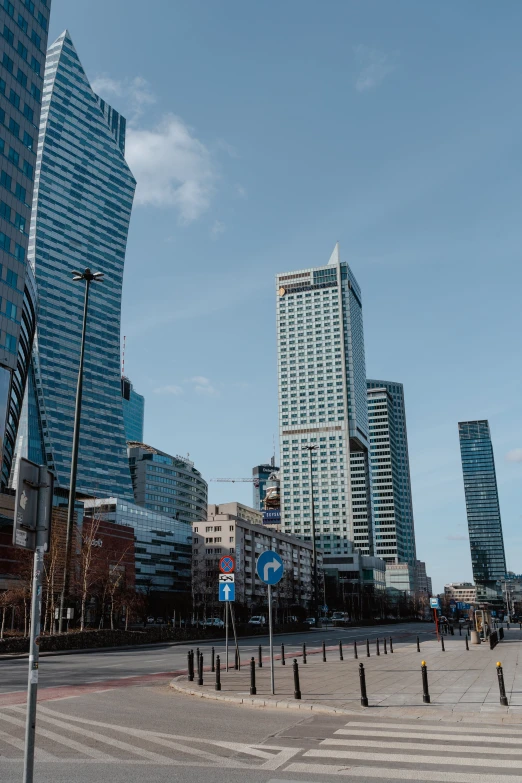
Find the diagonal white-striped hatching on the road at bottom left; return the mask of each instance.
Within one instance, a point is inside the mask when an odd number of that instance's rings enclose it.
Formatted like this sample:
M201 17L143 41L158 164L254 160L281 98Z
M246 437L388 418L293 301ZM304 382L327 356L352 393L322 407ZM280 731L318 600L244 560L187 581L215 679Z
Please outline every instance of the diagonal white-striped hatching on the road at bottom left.
M0 760L21 762L25 707L0 711ZM38 706L35 760L39 763L157 764L276 770L300 748L210 740L118 726Z

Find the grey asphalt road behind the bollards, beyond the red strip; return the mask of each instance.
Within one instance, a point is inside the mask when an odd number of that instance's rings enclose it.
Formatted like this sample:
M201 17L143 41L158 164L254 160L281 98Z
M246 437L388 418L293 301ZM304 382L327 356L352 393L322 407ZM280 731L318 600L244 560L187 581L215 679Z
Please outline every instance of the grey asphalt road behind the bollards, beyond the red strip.
M332 628L317 629L302 634L286 634L274 639L275 652L280 651L281 643L285 645L285 654L290 656L293 651L300 650L303 642L307 648L319 647L324 640L327 646L343 642L353 642L357 639L362 643L368 637L374 640L377 636L393 636L394 645L411 642L412 637L419 634L426 638L433 634L430 623L404 623L397 625L374 626L371 628ZM258 645L263 646L264 655L268 655L268 637L240 640L241 660L257 656ZM182 672L187 666L187 652L194 644L157 645L155 647L134 650L104 650L97 653L77 653L73 655L44 655L40 658L39 689L51 687L66 687L114 682L132 677L146 675L172 674ZM205 664L210 663L210 648L212 642L199 645L203 651ZM214 642L216 655L221 656L224 663L224 643ZM233 664L233 648L230 648L230 663ZM0 696L7 693L22 693L27 687L27 658L0 660Z

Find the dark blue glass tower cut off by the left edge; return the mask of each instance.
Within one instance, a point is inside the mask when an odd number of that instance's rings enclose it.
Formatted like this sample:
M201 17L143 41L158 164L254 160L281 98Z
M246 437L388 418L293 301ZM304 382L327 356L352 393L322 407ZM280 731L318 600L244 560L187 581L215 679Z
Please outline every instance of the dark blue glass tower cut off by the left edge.
M28 267L51 0L0 4L0 485L13 463L36 320Z

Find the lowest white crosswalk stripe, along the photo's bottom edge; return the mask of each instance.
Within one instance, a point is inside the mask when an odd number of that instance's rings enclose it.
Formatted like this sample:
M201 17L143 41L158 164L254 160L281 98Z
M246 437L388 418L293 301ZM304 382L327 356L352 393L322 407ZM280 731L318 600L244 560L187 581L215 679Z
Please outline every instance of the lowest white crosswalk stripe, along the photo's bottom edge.
M307 775L343 775L357 780L381 778L384 780L444 781L444 783L522 783L520 775L475 775L471 772L429 772L421 769L384 769L382 767L337 767L329 764L289 764L285 772L300 772ZM276 783L273 781L273 783ZM281 782L282 783L282 782ZM290 781L288 782L290 783Z

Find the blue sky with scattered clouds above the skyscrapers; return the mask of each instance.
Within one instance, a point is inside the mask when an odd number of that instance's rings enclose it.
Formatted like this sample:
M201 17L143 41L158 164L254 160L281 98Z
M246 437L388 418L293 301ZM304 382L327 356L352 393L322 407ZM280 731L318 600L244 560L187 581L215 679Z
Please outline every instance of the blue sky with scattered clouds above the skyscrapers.
M53 0L129 120L127 374L207 479L277 440L274 275L337 240L368 377L405 386L417 554L471 579L457 422L490 421L522 571L522 5ZM211 502L251 502L210 483Z

